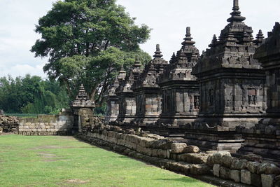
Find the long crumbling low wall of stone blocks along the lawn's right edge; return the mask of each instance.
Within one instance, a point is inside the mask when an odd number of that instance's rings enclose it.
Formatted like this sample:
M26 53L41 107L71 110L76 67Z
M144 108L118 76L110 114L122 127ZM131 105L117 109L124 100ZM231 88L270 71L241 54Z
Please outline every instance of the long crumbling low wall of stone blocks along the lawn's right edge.
M216 176L239 183L239 186L279 186L280 168L262 161L258 155L234 158L228 152L207 151L188 146L183 139L174 140L140 130L123 130L117 126L87 126L78 137L91 144L106 146L119 153L186 175ZM221 184L225 186L225 184Z

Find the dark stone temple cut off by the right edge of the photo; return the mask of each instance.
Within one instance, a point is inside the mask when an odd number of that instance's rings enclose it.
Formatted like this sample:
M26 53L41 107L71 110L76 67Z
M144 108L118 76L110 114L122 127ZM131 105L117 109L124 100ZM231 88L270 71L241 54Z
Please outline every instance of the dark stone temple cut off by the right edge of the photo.
M239 153L258 153L265 158L280 155L280 24L276 22L268 38L254 55L267 76L267 113L254 127L238 127L243 134L244 147Z

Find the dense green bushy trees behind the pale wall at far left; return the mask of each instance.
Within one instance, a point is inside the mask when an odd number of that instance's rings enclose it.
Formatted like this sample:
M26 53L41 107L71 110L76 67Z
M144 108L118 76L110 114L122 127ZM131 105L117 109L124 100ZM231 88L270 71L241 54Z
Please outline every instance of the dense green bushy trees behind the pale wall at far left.
M0 109L6 113L57 113L68 105L66 89L57 81L30 75L0 78Z

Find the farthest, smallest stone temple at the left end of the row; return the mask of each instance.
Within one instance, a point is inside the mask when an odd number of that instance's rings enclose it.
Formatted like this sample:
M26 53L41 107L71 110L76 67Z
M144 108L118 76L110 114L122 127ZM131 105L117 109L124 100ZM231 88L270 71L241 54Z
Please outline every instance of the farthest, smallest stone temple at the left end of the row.
M118 77L115 79L113 84L108 88L107 92L104 95L107 104L107 111L105 117L106 123L111 123L113 121L116 121L118 118L120 102L116 94L116 90L119 87L120 82L125 79L125 76L126 76L126 72L125 69L123 69L122 67L120 69Z

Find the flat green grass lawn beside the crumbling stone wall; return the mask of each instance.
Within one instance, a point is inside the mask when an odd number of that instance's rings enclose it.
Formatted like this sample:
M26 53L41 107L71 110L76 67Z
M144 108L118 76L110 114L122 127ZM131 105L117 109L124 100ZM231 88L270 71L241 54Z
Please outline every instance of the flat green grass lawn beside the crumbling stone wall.
M0 186L211 186L73 137L0 136Z

